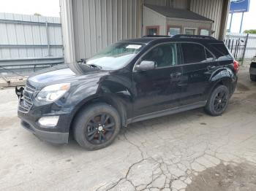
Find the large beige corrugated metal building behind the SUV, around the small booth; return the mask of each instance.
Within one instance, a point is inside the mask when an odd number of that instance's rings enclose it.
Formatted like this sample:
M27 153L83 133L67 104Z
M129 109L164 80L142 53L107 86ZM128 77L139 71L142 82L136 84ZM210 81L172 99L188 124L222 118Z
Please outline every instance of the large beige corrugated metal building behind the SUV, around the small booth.
M201 28L211 28L213 36L222 39L230 0L60 0L60 4L65 61L72 63L120 39L146 34L146 4L184 9L206 17L211 26ZM165 34L167 25L175 23L167 19Z

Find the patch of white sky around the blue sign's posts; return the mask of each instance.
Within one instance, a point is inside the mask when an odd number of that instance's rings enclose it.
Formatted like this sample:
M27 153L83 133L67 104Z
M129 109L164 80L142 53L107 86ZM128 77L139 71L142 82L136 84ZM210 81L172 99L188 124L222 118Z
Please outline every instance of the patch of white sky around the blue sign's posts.
M240 29L242 13L233 14L231 32L238 33ZM227 28L230 27L230 15L227 22ZM244 12L244 22L242 32L247 29L256 29L256 0L250 0L249 12Z

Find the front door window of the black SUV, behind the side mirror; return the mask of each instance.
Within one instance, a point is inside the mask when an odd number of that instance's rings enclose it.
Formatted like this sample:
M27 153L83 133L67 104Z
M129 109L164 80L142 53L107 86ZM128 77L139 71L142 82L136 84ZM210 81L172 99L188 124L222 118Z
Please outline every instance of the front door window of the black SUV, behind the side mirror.
M143 56L142 61L154 61L157 63L157 68L175 66L177 64L176 44L162 44L154 47Z

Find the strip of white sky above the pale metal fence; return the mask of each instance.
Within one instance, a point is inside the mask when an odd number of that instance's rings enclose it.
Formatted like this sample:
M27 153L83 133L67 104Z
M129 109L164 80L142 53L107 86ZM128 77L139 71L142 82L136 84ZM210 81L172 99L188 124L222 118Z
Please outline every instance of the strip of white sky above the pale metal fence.
M59 0L0 0L0 12L59 17Z

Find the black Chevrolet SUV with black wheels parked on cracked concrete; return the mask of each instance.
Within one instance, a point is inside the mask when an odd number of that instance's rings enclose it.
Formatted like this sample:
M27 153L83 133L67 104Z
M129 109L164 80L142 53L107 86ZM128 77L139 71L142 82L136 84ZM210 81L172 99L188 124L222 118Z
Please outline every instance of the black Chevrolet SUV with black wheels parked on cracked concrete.
M144 36L89 59L42 71L16 89L22 125L52 143L74 135L101 149L121 127L204 107L217 116L236 88L238 63L211 36Z

